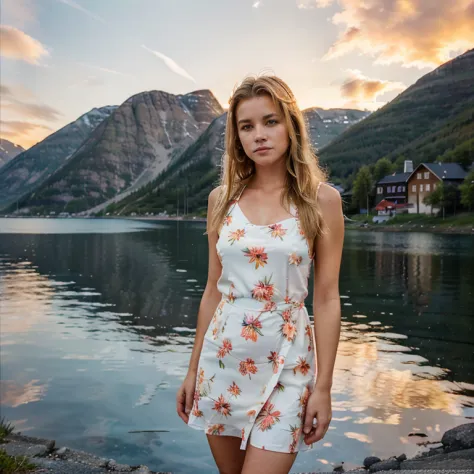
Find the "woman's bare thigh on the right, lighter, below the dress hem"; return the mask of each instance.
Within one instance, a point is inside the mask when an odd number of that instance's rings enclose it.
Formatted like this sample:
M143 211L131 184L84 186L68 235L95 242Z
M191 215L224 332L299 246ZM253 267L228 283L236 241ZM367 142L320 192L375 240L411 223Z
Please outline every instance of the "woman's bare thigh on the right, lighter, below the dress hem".
M288 474L297 453L278 453L247 445L242 474Z

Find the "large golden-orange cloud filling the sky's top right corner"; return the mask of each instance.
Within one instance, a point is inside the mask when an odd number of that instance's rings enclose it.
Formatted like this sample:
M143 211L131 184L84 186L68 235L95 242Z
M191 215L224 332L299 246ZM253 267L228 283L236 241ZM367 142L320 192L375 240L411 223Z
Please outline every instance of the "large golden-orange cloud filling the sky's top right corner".
M303 0L303 8L331 0ZM375 64L433 68L474 46L472 0L338 0L332 23L344 31L323 59L354 51Z

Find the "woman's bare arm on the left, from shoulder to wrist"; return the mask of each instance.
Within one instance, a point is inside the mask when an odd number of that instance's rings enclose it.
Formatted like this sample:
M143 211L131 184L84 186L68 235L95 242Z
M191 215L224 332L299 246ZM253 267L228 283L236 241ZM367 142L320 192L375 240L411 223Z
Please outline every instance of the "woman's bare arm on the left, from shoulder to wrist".
M222 265L217 256L216 243L218 234L214 230L209 231L209 223L211 222L214 205L217 200L217 196L220 192L220 186L213 189L209 193L208 206L207 206L207 231L208 231L208 242L209 242L209 268L207 274L207 284L204 289L204 293L201 298L198 312L198 322L196 327L196 337L194 339L194 347L191 353L189 361L188 372L196 373L198 370L199 356L201 354L202 343L204 334L209 327L212 315L217 309L217 305L222 298L222 294L217 289L217 280L221 276Z

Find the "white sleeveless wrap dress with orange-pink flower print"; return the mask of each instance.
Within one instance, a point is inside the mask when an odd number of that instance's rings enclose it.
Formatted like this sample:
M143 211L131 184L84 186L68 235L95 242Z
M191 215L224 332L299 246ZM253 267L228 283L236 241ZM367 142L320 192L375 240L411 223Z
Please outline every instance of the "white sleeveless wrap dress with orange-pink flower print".
M312 259L298 211L252 224L238 197L216 244L222 294L204 335L188 426L295 453L316 379L315 344L304 300Z

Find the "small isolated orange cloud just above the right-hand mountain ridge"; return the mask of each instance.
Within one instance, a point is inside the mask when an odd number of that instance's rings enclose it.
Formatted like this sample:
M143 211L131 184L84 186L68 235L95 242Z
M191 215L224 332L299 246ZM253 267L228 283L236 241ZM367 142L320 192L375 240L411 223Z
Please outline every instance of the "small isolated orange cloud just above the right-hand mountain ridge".
M351 77L342 83L341 95L355 103L376 102L377 97L386 92L406 89L401 82L371 79L358 70L348 70L348 72Z

